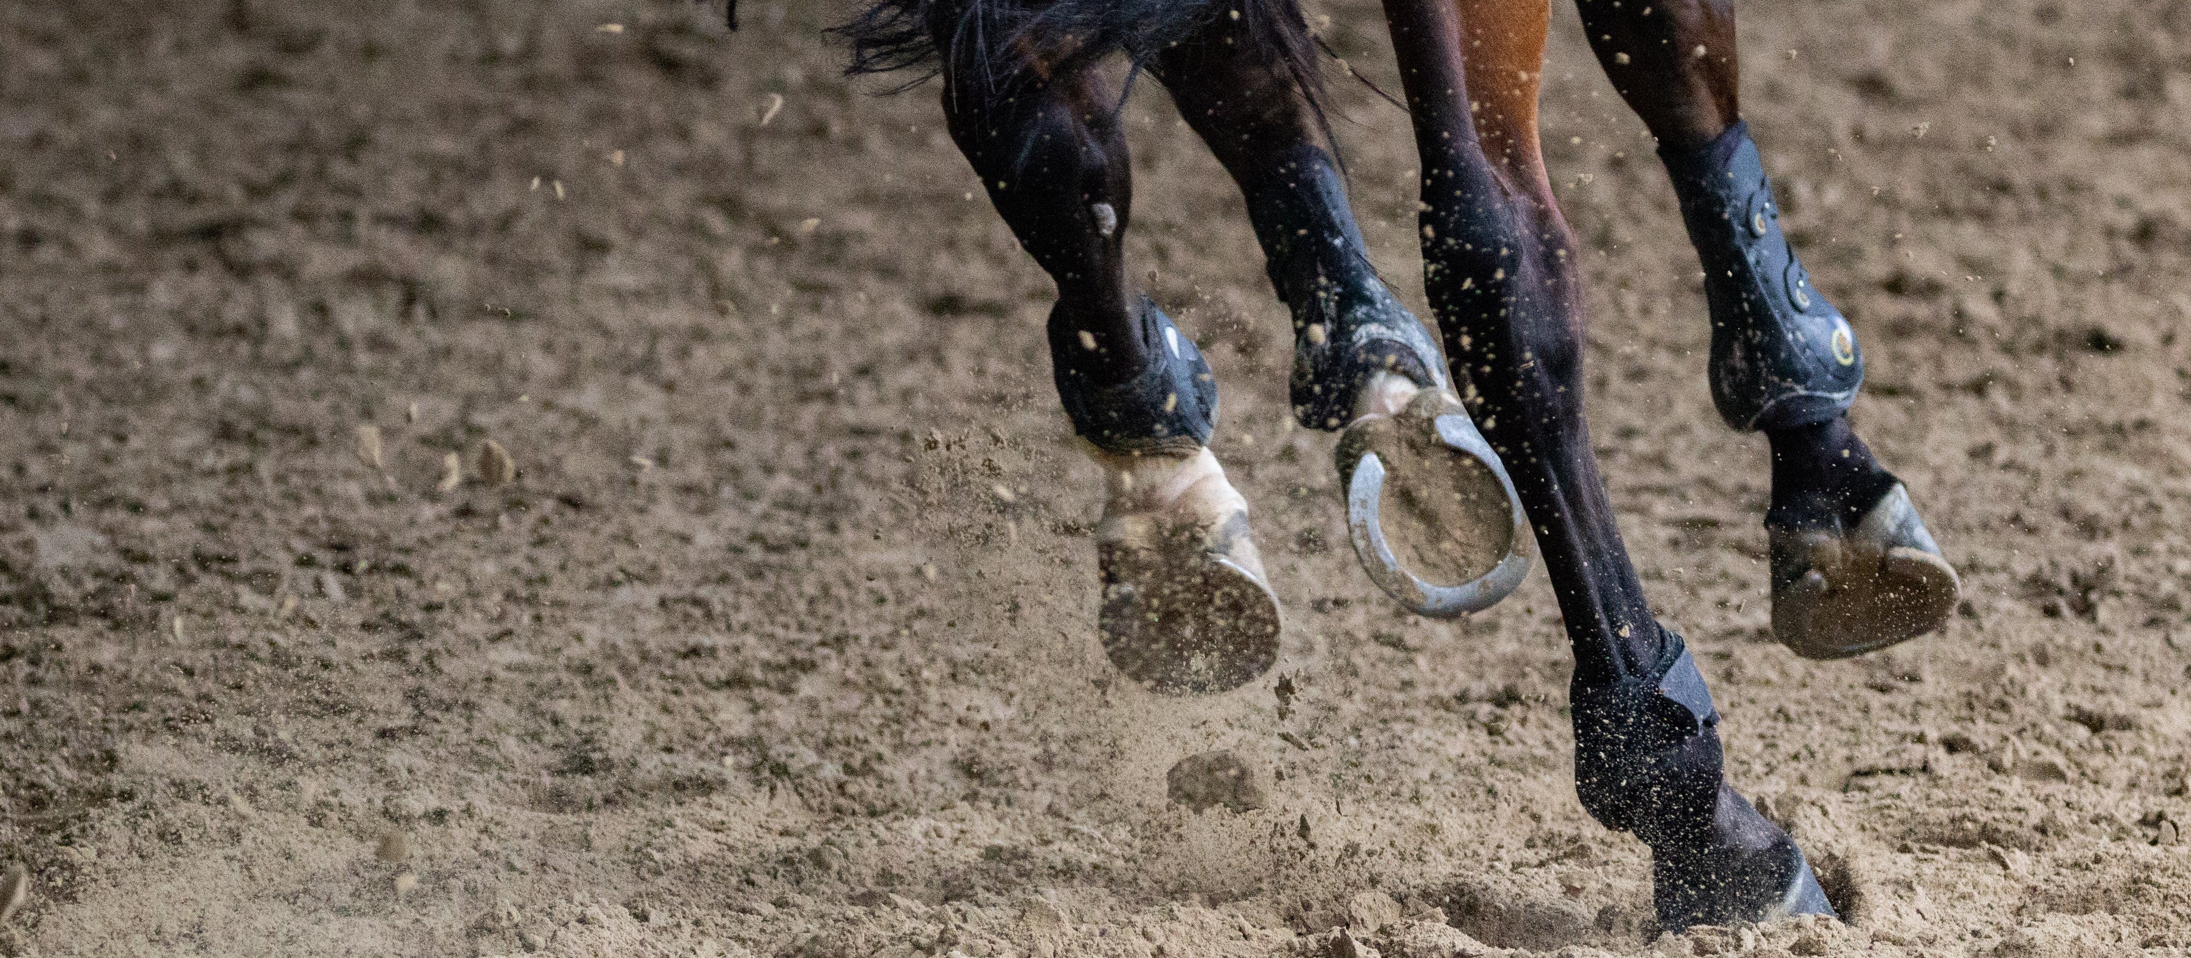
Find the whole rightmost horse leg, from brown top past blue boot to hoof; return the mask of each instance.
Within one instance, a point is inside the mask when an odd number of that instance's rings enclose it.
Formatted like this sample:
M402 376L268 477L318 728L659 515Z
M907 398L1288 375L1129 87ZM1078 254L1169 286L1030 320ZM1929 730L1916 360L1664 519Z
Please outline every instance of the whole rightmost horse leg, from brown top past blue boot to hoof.
M1773 446L1773 632L1843 658L1948 621L1954 569L1908 490L1856 437L1856 332L1779 227L1737 101L1733 0L1578 0L1613 85L1659 138L1705 265L1711 398Z

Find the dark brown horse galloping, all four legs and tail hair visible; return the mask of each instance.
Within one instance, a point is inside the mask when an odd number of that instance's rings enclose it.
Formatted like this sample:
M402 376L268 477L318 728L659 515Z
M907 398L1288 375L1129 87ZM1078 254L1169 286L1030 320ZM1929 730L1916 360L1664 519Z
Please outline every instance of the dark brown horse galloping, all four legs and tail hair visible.
M1775 636L1843 658L1939 628L1961 584L1849 424L1862 357L1781 234L1740 118L1731 0L1578 4L1659 140L1705 269L1713 405L1770 444ZM1575 243L1538 151L1549 0L1385 0L1385 17L1442 337L1369 267L1297 0L872 0L837 33L854 74L942 81L953 142L1056 282L1052 374L1104 470L1098 634L1120 671L1159 693L1234 689L1273 665L1282 626L1247 501L1207 446L1216 378L1126 282L1133 188L1102 68L1122 57L1247 197L1293 315L1293 411L1341 433L1350 540L1372 580L1457 617L1540 560L1573 645L1575 792L1650 846L1659 923L1832 916L1803 851L1727 781L1711 693L1645 604L1591 451Z

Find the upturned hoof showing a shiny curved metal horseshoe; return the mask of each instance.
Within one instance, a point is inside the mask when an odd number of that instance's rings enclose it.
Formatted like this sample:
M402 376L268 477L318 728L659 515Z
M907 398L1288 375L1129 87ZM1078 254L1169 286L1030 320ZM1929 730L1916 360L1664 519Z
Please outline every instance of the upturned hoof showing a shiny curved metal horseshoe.
M1339 437L1347 538L1387 595L1457 619L1505 599L1529 571L1514 479L1461 402L1424 389L1393 416L1363 416Z

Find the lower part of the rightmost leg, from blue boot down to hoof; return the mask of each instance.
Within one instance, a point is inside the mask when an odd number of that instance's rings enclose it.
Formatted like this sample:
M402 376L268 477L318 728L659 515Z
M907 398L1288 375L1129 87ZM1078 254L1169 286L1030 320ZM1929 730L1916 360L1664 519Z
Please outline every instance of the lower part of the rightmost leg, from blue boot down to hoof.
M1773 446L1766 536L1773 634L1845 658L1932 632L1961 593L1908 490L1849 427L1856 330L1810 284L1742 122L1707 149L1663 149L1705 265L1711 398Z

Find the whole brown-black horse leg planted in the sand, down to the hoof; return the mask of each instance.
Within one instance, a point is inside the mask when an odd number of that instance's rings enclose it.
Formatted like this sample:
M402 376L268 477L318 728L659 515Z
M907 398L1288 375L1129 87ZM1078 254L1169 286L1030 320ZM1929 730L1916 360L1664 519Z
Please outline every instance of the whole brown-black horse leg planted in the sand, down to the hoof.
M1538 153L1549 0L1385 0L1422 153L1446 350L1483 396L1575 650L1575 792L1652 851L1659 921L1832 914L1786 831L1724 781L1718 711L1643 599L1582 416L1582 289Z

